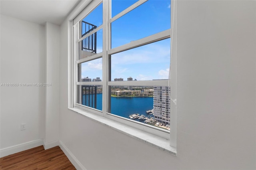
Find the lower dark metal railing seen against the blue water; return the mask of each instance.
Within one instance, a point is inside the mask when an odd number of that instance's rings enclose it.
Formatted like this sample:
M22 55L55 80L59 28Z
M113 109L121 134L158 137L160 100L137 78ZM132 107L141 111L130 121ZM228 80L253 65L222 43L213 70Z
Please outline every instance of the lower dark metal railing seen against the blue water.
M82 85L82 105L97 107L97 86Z

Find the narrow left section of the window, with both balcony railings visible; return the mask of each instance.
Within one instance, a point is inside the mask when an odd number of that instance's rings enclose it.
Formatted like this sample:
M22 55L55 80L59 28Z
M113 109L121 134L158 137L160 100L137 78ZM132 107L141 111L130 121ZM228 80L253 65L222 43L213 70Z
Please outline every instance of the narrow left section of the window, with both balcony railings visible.
M74 25L75 103L102 111L103 4Z

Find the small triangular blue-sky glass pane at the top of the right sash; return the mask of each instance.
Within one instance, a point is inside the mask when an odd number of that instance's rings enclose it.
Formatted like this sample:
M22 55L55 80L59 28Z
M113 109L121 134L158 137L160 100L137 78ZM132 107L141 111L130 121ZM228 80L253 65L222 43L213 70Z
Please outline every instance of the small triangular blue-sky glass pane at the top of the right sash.
M112 0L112 18L137 1L138 0Z

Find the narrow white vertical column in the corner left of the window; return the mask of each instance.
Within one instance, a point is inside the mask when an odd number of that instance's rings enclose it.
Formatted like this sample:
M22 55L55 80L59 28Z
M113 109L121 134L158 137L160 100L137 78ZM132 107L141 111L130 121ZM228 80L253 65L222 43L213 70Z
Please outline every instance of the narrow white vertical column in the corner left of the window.
M46 23L46 111L44 148L58 145L59 139L59 62L60 62L60 26Z

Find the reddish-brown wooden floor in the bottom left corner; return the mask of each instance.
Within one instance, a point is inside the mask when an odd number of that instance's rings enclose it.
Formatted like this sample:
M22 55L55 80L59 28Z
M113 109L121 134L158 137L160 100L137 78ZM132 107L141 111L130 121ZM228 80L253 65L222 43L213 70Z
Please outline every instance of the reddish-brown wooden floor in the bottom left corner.
M59 146L38 146L0 158L0 170L75 170Z

